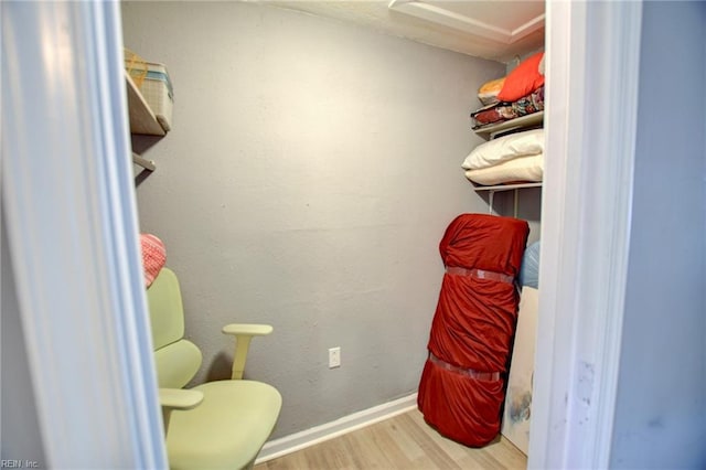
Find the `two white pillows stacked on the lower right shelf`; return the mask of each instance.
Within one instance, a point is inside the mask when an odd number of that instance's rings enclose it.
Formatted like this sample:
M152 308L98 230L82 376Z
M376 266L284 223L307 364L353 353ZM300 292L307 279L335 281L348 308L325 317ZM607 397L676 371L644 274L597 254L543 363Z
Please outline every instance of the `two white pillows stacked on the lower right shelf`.
M544 129L525 130L474 148L461 164L477 184L539 182L544 175Z

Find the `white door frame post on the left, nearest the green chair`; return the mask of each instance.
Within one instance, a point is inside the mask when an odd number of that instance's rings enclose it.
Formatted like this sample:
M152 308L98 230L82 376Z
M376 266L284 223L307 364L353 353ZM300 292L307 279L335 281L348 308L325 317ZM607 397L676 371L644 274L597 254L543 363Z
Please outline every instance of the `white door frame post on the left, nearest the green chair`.
M14 274L26 348L17 353L47 460L36 464L165 468L119 3L0 8L3 273Z

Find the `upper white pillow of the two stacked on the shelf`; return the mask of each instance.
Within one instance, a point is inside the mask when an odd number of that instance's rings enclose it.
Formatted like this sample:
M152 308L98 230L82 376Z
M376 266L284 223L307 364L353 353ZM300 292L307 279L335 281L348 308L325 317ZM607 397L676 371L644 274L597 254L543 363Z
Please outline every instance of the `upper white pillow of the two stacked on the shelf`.
M464 170L479 170L517 157L544 152L544 129L525 130L489 140L475 147L461 164Z

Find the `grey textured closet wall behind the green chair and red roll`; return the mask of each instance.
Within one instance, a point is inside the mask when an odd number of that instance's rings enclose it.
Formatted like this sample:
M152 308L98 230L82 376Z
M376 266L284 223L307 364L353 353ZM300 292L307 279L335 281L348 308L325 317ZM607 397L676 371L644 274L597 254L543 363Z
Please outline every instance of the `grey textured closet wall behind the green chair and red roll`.
M505 66L274 7L122 9L126 45L174 83L173 130L133 145L153 145L141 229L182 281L197 381L228 373L222 324L267 322L246 375L282 393L275 437L416 392L438 243L488 211L460 169L469 113Z

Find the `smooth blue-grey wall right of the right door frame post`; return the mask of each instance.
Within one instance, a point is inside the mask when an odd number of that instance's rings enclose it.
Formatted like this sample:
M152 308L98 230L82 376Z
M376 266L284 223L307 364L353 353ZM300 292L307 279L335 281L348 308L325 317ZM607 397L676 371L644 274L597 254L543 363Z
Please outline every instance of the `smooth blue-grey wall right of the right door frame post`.
M706 467L705 29L704 3L643 4L614 468Z

